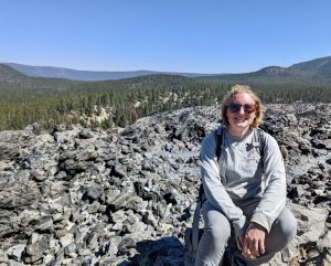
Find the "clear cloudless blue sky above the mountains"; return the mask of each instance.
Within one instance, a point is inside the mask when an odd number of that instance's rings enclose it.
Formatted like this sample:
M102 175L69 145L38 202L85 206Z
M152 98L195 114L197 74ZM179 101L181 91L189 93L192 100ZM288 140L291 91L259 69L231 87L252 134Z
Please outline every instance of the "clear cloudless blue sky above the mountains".
M3 0L0 62L244 73L331 55L330 0Z

